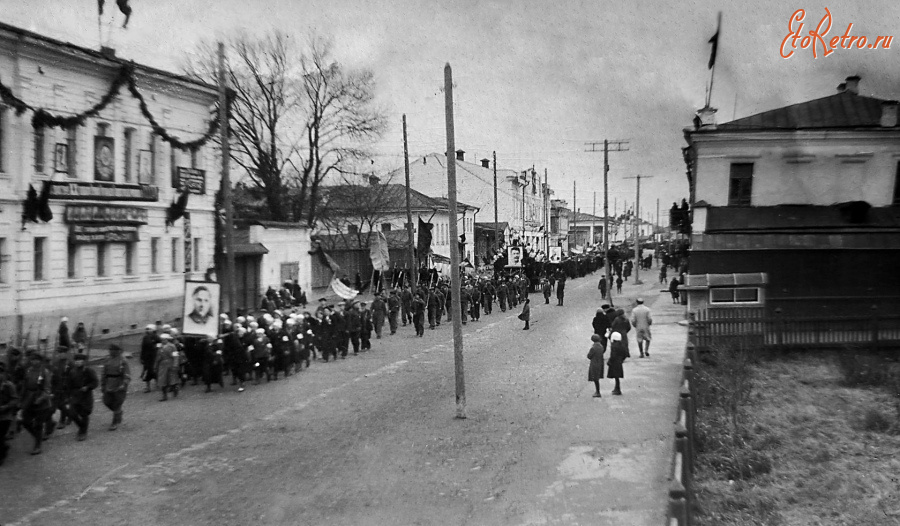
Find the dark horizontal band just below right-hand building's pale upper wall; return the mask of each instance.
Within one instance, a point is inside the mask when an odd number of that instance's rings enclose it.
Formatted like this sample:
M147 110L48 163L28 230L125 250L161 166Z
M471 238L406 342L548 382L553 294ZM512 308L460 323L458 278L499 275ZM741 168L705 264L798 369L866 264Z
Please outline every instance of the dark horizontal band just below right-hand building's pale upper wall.
M709 207L706 214L707 233L835 229L898 230L900 207L870 208L859 203Z

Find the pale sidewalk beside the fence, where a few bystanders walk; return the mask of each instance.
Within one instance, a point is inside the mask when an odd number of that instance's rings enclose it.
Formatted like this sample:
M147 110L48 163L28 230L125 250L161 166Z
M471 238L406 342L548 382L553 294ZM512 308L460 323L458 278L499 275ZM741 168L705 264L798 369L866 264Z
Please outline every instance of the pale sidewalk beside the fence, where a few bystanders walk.
M651 271L642 285L626 282L615 302L629 317L638 295L652 309L650 357L639 357L632 329L623 395L610 394L613 382L605 380L603 397L592 398L593 385L585 382L555 429L540 437L541 454L558 464L541 477L546 489L525 524L665 523L687 328L678 324L684 307L660 292L665 287L656 278Z

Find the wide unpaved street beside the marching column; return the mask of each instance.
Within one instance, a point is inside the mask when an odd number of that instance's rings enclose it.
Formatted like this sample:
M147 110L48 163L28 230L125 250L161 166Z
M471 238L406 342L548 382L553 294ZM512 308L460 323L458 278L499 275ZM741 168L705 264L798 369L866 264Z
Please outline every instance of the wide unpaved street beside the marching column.
M565 307L532 295L530 331L518 309L464 327L466 420L455 418L450 326L423 338L402 327L373 340L373 351L240 394L189 386L161 403L158 392L132 393L116 432L98 405L86 442L70 426L38 457L20 436L0 468L0 522L532 523L545 488L528 481L556 462L535 459L538 437L593 390L585 354L600 303L594 276L567 292ZM647 296L651 307L656 296Z

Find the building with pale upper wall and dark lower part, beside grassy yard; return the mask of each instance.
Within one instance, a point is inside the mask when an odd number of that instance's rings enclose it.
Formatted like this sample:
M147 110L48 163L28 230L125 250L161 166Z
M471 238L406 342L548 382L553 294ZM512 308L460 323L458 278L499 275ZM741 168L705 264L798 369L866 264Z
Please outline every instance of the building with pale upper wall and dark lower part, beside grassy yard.
M685 130L691 310L900 310L897 102L859 81L720 125L705 108Z

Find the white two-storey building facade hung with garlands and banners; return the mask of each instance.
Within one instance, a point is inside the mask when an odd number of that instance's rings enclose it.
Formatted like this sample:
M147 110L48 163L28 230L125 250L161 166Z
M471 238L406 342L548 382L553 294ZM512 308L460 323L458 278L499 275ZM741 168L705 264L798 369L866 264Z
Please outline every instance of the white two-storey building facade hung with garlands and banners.
M0 338L180 318L214 265L216 89L4 24L0 81Z

